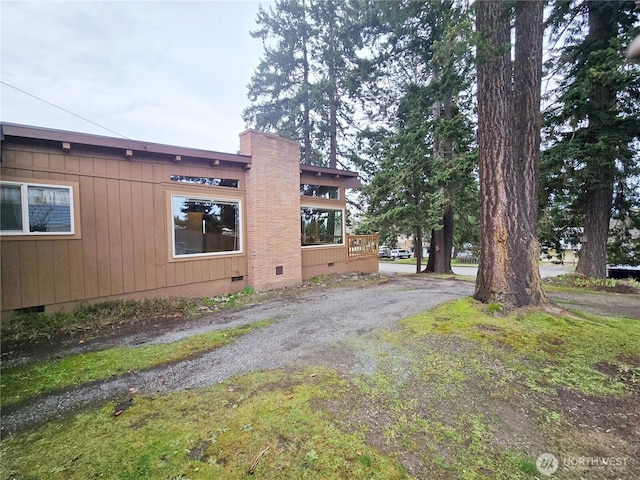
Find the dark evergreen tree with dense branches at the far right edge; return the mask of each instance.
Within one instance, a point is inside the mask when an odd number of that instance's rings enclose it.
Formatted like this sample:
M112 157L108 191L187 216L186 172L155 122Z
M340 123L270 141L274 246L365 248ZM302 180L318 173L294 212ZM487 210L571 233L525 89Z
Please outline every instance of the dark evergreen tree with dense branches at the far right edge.
M580 244L576 272L587 277L604 278L607 257L640 256L629 235L638 215L640 69L624 59L639 30L635 8L632 0L556 2L550 18L562 48L552 72L566 73L546 111L541 235L557 251L561 241Z

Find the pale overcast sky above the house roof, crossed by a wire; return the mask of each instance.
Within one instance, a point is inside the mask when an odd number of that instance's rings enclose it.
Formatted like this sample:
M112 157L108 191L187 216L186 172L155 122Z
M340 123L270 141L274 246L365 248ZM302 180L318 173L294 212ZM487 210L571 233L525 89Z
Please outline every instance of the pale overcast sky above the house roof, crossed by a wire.
M125 137L234 153L260 3L2 0L1 78ZM117 136L0 88L2 121Z

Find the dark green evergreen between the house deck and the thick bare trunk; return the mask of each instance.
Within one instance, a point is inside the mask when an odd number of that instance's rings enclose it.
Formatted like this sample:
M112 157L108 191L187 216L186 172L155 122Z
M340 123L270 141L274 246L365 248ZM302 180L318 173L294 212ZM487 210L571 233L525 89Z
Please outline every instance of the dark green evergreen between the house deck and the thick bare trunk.
M381 131L394 133L389 144L375 134L367 137L374 151L370 159L379 167L374 188L365 190L373 205L369 216L381 227L395 221L402 233L413 235L417 271L422 237L430 233L425 271L451 272L454 216L468 218L477 205L471 115L463 109L471 103L465 98L472 66L470 14L454 2L376 5L376 33L386 41L377 46L377 82L369 87L383 99L377 103ZM411 188L399 178L410 178ZM387 210L379 211L380 205Z

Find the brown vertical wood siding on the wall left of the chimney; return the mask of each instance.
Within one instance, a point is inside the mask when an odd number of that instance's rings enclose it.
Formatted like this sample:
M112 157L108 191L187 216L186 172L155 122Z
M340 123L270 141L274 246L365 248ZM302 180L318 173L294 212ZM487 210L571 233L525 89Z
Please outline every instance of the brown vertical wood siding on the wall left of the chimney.
M179 184L170 175L236 178L240 188ZM171 193L204 195L244 206L242 168L174 163L145 153L127 159L82 145L64 153L47 142L5 138L0 178L71 185L76 214L73 236L0 237L3 313L141 296L212 296L246 286L246 247L239 254L172 258L168 200ZM245 218L241 224L246 231ZM244 279L232 282L239 277Z

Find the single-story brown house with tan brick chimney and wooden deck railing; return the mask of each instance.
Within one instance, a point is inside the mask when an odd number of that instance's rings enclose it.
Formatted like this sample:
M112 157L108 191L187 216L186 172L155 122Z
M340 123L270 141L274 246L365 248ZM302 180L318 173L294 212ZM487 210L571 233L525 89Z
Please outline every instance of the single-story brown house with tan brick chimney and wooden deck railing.
M346 233L355 172L247 130L237 154L0 124L2 315L268 290L378 270Z

